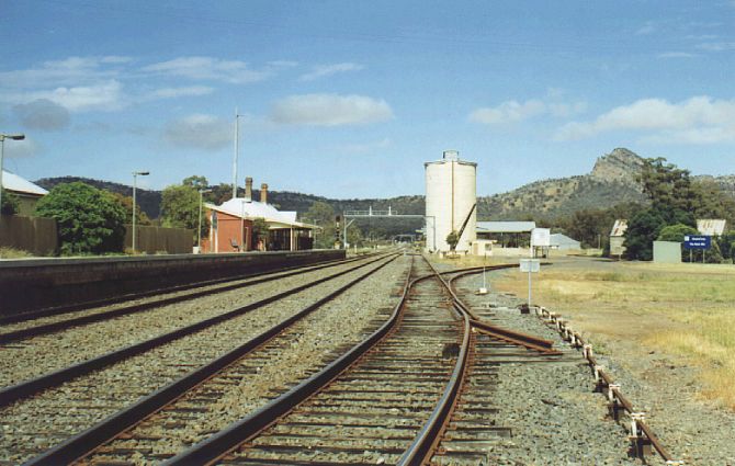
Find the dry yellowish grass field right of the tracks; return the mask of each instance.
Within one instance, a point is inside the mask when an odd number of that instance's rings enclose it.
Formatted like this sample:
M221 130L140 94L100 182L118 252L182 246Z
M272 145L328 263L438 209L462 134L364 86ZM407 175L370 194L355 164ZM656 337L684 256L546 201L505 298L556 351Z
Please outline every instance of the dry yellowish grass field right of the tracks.
M656 350L701 368L701 395L735 409L735 266L551 261L556 265L533 277L534 303L569 317L610 351L625 346L645 357ZM525 296L527 277L504 272L493 286Z

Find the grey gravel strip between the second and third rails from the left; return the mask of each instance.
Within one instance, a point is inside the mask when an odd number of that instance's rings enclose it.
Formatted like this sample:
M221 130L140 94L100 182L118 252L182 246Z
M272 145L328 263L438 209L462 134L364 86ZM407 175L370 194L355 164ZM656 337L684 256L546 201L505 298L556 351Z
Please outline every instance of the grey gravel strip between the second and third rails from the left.
M349 288L350 284L364 277L366 271L374 272L394 258L372 258L366 263L328 279L302 284L298 291L291 289L271 296L248 309L235 309L236 312L233 312L238 315L228 316L226 322L220 317L219 321L210 322L203 330L180 336L156 349L142 350L138 355L118 354L124 361L103 361L104 370L87 367L81 376L75 374L74 370L64 370L61 372L69 372L64 380L50 380L50 386L55 388L46 389L35 397L30 395L39 389L33 386L10 393L3 390L0 395L7 396L4 400L14 398L5 402L10 406L0 411L0 418L3 419L3 435L0 436L3 459L18 464L64 443L75 433L126 406L150 398L151 394L158 394L172 380L184 377L194 368L223 354L230 354L234 346L240 345L241 351L245 346L242 341L249 337L293 317L308 303L312 306L307 307L316 306L315 303L326 294ZM309 289L314 286L316 288ZM151 368L155 372L150 372ZM69 382L70 378L74 379ZM11 405L12 401L15 402Z

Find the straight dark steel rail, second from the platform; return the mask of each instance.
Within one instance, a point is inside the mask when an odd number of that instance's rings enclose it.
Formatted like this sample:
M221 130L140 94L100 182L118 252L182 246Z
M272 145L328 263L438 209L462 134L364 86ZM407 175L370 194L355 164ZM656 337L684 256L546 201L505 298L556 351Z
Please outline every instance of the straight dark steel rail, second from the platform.
M296 293L299 293L304 289L307 289L312 286L316 286L318 284L328 282L330 280L337 279L341 275L344 275L347 273L350 273L352 271L355 271L358 269L361 269L363 266L368 266L374 262L380 261L381 259L374 259L369 262L365 262L363 264L360 264L358 266L348 269L342 272L338 272L336 274L329 275L324 279L316 280L314 282L306 283L304 285L296 286L295 288L289 289L286 292L279 293L276 295L270 296L268 298L261 299L257 303L251 303L247 306L239 307L237 309L220 314L218 316L199 321L196 323L180 328L178 330L173 330L171 332L155 337L152 339L142 341L139 343L132 344L129 346L120 349L120 350L114 350L111 351L106 354L103 354L98 357L93 357L91 360L83 361L81 363L75 364L72 366L61 368L55 372L52 372L46 375L42 375L39 377L33 378L31 380L22 382L16 385L12 385L10 387L3 388L0 390L0 408L8 406L21 398L26 398L30 397L43 389L47 389L50 387L55 387L58 385L64 384L65 382L69 382L71 379L75 379L77 377L80 377L82 375L89 374L93 371L99 371L103 367L106 367L111 364L117 363L120 361L123 361L125 359L128 359L131 356L144 353L146 351L149 351L154 348L160 346L162 344L169 343L171 341L181 339L183 337L186 337L189 334L195 333L197 331L204 330L206 328L213 327L217 323L222 323L226 320L234 319L236 317L239 317L246 312L249 312L253 309L257 309L259 307L265 306L268 304L278 302L280 299L283 299L284 297L294 295Z

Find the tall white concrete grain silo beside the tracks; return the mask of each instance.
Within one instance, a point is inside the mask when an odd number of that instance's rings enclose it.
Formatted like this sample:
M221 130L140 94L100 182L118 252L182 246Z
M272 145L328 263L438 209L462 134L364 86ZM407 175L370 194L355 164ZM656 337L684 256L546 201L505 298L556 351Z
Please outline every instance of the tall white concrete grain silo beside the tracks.
M426 169L427 250L449 251L446 236L460 231L467 215L457 251L470 251L477 239L477 163L460 160L460 152L445 150L442 160L423 163Z

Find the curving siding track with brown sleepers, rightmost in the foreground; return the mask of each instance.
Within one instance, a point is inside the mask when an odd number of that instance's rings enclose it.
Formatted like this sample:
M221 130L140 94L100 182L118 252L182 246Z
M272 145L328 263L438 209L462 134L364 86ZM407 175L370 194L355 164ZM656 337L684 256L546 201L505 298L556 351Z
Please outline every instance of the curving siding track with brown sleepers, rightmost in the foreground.
M428 459L443 432L437 425L451 412L464 378L471 319L428 263L416 264L411 276L391 321L370 339L166 464L369 465ZM552 353L549 342L527 340Z

